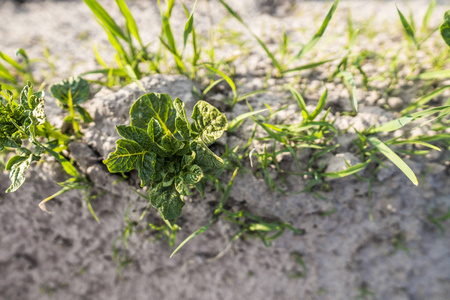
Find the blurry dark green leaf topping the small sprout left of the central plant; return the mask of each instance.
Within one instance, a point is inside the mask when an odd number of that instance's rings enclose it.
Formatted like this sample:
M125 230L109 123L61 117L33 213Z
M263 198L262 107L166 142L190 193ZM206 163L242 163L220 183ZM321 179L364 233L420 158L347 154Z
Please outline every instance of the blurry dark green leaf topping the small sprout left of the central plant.
M89 99L89 83L81 77L70 77L50 87L50 92L53 97L61 102L64 106L63 108L66 108L65 106L68 104L69 91L74 105L78 105Z

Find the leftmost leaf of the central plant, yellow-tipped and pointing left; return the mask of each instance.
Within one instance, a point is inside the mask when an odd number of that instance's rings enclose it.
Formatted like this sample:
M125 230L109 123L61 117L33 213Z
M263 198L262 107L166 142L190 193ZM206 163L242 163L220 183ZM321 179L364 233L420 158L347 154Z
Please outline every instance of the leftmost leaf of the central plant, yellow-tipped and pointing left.
M142 161L142 157L147 153L147 150L134 141L120 139L116 143L116 151L110 153L108 158L103 161L111 173L133 170L136 162Z

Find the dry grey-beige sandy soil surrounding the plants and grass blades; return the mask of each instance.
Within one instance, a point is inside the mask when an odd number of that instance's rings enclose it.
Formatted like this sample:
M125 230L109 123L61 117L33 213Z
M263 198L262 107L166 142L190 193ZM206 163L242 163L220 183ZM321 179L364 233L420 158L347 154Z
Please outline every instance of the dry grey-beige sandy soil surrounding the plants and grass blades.
M119 19L113 1L100 1ZM317 30L330 3L295 1L228 1L240 12L249 26L265 40L273 40L276 47L285 27L294 43L308 39ZM130 9L141 29L145 42L155 42L159 34L159 13L155 3L130 1ZM192 1L186 1L192 4ZM443 3L446 4L446 3ZM410 6L418 20L426 10L425 2L411 1ZM399 3L406 10L404 3ZM438 6L432 18L434 25L442 12L450 7ZM393 2L343 1L330 23L327 38L317 50L299 64L315 57L329 57L340 53L346 44L347 11L352 11L355 26L364 27L364 21L373 16L377 34L369 39L361 37L357 49L387 51L391 55L400 49L403 35ZM176 36L182 36L183 12L174 11ZM223 20L226 12L215 1L199 1L196 26L200 34L207 35L211 25ZM176 21L180 20L180 21ZM224 32L240 28L228 19ZM96 43L109 60L113 52L89 9L79 1L31 2L15 5L0 4L0 50L9 55L22 47L32 58L43 58L48 47L52 63L40 62L35 67L36 76L48 84L70 75L97 67L92 52ZM301 30L296 30L301 28ZM265 84L265 74L270 61L264 52L248 37L250 56L237 59L236 67L240 90L249 92ZM437 39L435 39L437 40ZM181 39L180 39L181 42ZM435 42L430 42L435 43ZM434 44L433 44L434 45ZM435 43L435 51L439 44ZM441 47L443 44L440 44ZM234 45L217 45L217 56L228 57L237 51ZM425 55L418 53L424 60ZM407 64L402 65L407 73ZM329 65L303 73L308 103L317 102L321 80L329 75ZM372 76L386 70L368 62L365 70ZM287 79L269 79L270 92L253 97L255 109L268 103L274 108L290 105L280 119L298 118L295 106L287 94L278 87ZM300 80L300 79L299 79ZM361 78L355 78L360 98L357 117L342 116L348 110L348 94L343 84L331 82L330 118L339 117L336 127L342 130L339 153L352 152L354 130L351 124L367 127L384 123L396 117L389 109L389 99L382 95L385 82L374 83L370 90L361 88ZM179 75L155 75L142 81L147 91L165 92L173 98L180 97L188 107L196 99L191 91L194 83ZM402 79L395 97L403 106L418 96L418 86ZM221 105L220 99L230 93L226 86L215 90L206 100ZM70 146L70 155L79 168L94 183L93 193L99 197L92 201L101 223L97 224L85 207L80 192L71 191L49 204L52 215L41 212L37 204L58 190L55 181L62 178L51 161L34 166L27 181L14 194L0 194L0 299L354 299L364 290L370 291L364 299L448 299L450 293L450 239L442 235L428 221L430 211L442 215L450 207L450 159L448 150L431 152L426 157L409 158L408 164L420 177L419 187L395 167L377 173L372 196L368 183L355 178L329 181L330 190L321 194L323 201L310 193L285 195L271 191L258 171L250 167L238 176L232 189L231 210L246 209L269 220L283 220L305 230L304 235L284 233L264 246L260 240L244 236L230 243L239 227L219 220L204 234L188 243L177 255L169 259L171 249L164 238L140 226L130 238L128 249L121 241L126 226L125 211L137 221L146 207L145 200L132 191L137 187L135 176L118 184L117 177L109 174L101 160L114 149L117 134L115 124L128 121L129 107L142 94L135 84L119 91L102 90L86 103L94 116L95 124L84 128L82 141ZM444 94L439 101L450 95ZM55 124L61 123L60 111L51 97L47 98L48 116ZM222 105L232 118L247 111L238 104L233 111ZM223 153L224 143L230 145L246 142L250 123L234 134L226 134L214 150ZM351 126L350 126L351 127ZM258 147L261 145L255 145ZM301 153L300 159L308 159ZM338 153L324 157L330 165ZM303 162L303 161L302 161ZM280 164L289 169L293 162L283 157ZM374 170L366 170L367 175ZM231 174L224 174L224 182ZM283 183L288 192L301 190L307 182L299 176L273 179ZM6 190L9 178L0 174L0 191ZM220 194L209 187L204 199L193 196L187 199L181 218L181 231L177 243L194 230L207 223ZM326 212L334 211L326 215ZM145 221L159 224L156 212L148 213ZM449 223L444 223L448 228ZM406 249L406 250L405 250ZM301 257L304 268L298 263ZM122 268L123 267L123 268ZM301 276L306 275L306 276Z

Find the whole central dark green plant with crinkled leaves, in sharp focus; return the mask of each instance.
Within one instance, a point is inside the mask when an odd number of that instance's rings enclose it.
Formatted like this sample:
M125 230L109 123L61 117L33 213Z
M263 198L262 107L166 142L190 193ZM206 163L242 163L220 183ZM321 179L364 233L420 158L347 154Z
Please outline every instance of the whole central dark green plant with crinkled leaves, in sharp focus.
M223 161L207 145L228 128L224 114L199 101L189 123L180 99L167 94L145 94L130 109L131 125L117 126L123 137L104 163L113 173L138 171L141 186L150 186L149 199L166 220L181 214L183 196L197 187L208 169ZM156 172L155 170L158 170Z

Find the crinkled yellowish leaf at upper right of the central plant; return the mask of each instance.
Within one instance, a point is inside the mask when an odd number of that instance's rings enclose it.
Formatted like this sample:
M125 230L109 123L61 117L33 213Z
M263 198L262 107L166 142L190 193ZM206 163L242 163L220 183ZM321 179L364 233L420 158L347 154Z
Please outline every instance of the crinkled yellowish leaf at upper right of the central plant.
M228 129L227 117L205 101L199 101L192 113L194 137L205 144L212 144Z

